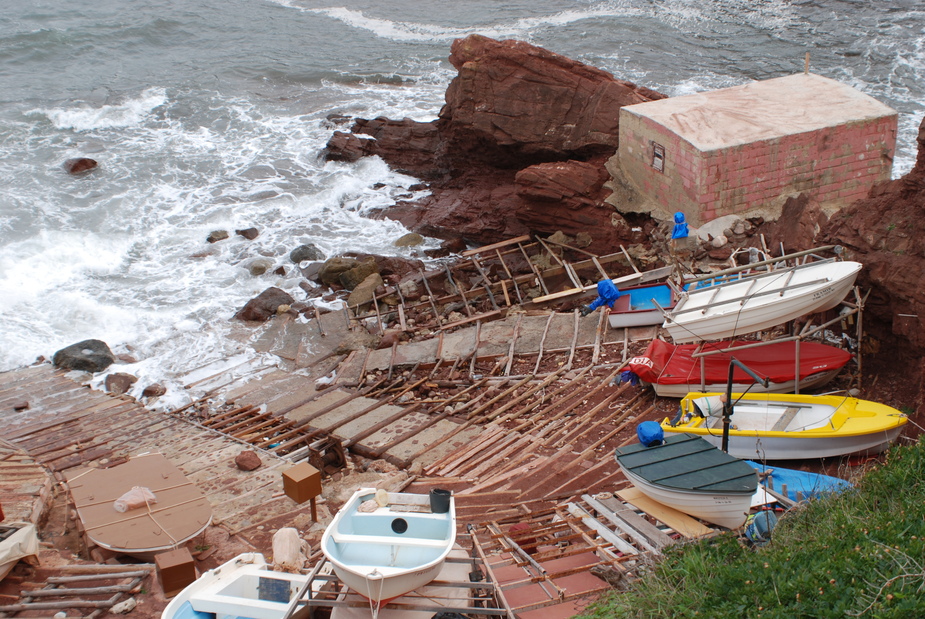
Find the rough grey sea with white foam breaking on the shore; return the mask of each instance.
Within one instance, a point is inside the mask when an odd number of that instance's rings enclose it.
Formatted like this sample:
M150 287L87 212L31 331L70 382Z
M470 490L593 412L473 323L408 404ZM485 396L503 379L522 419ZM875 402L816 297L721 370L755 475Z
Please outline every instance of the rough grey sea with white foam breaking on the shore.
M528 41L668 95L797 73L809 52L812 72L899 112L898 177L925 108L923 30L911 1L5 0L0 370L96 338L137 360L113 367L136 391L161 382L181 403L195 368L255 356L229 337L247 300L305 297L298 245L414 255L367 215L423 195L417 179L321 151L339 116L435 118L454 39ZM72 157L100 166L71 176ZM252 276L257 257L290 276Z

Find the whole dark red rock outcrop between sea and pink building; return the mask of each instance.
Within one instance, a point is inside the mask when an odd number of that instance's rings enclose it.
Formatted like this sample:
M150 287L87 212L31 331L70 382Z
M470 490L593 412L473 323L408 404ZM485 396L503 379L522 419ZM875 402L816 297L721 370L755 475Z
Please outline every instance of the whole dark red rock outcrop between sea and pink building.
M472 35L453 43L450 62L459 74L436 121L360 119L328 143L329 159L378 155L427 182L430 197L385 216L479 244L561 230L609 253L645 238L654 223L605 203L604 162L620 108L664 95L521 41Z

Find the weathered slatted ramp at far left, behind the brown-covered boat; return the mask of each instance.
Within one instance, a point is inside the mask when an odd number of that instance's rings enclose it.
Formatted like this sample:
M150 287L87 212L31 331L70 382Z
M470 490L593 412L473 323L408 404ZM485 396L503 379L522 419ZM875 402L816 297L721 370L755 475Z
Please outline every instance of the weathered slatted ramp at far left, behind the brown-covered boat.
M18 408L22 403L27 406ZM127 396L94 391L48 364L0 374L0 411L0 435L58 481L75 467L161 452L209 499L213 522L232 533L302 511L282 493L289 460L258 450L262 466L241 471L233 461L248 443L152 412Z

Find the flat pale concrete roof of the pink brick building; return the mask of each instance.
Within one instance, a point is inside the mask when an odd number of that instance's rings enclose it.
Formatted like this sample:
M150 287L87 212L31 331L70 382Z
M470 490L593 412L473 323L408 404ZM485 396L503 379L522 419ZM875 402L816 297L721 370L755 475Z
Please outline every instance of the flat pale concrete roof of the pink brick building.
M650 118L701 151L896 115L851 86L811 73L637 103L622 111Z

